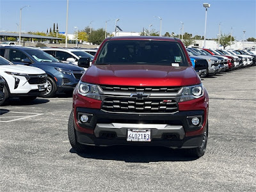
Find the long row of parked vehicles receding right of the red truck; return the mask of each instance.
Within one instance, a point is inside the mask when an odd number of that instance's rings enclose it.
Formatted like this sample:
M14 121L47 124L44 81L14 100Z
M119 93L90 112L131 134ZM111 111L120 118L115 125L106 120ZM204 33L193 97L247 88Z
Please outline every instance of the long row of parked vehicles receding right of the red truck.
M187 48L193 67L200 77L256 65L256 56L250 51ZM202 67L202 63L207 63Z

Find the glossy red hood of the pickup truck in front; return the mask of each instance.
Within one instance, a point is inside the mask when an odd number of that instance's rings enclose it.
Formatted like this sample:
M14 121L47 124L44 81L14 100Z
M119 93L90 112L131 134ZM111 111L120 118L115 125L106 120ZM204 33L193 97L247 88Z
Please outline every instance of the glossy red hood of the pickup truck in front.
M81 80L127 86L186 86L201 82L192 67L163 65L92 65Z

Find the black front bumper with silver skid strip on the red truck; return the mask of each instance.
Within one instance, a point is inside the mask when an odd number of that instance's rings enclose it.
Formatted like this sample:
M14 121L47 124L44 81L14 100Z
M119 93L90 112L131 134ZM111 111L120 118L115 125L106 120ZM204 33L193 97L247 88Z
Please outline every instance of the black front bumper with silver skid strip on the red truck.
M77 141L84 145L95 146L161 145L170 148L193 148L200 145L202 135L188 137L186 132L204 129L207 125L204 110L179 111L174 114L125 114L76 108L75 114ZM79 120L84 114L89 116L86 123ZM194 116L200 119L198 126L189 122ZM127 141L128 129L150 129L152 141Z

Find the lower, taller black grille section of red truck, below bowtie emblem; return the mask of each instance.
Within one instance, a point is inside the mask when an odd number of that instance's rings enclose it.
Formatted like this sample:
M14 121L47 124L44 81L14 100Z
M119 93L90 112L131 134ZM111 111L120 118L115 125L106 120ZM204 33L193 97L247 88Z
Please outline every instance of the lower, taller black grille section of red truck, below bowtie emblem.
M102 101L102 109L109 112L124 113L175 113L178 104L175 100L132 98L106 98Z

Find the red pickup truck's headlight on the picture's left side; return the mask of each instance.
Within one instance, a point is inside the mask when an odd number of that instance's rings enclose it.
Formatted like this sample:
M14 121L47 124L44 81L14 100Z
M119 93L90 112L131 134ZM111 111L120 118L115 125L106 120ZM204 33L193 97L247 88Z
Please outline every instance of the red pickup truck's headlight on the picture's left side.
M101 100L97 84L90 84L79 81L77 84L77 90L80 95Z

